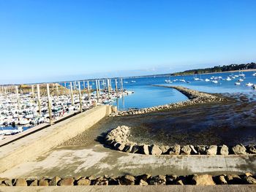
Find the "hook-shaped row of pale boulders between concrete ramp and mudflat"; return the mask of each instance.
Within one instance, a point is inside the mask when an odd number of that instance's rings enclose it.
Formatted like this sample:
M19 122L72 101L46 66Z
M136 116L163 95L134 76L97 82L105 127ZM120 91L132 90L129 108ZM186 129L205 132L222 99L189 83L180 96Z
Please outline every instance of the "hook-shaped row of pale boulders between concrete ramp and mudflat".
M115 150L145 155L248 155L256 154L255 145L155 145L129 141L130 127L118 126L105 137L105 143Z

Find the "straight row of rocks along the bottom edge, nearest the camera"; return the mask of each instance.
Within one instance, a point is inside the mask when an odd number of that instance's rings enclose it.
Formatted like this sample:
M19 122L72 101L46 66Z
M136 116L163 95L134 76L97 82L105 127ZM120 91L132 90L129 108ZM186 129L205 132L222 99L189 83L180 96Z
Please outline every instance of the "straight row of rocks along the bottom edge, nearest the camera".
M256 175L245 174L192 174L177 176L174 174L156 175L125 174L119 177L41 177L41 178L0 178L0 187L7 186L70 186L70 185L255 185Z

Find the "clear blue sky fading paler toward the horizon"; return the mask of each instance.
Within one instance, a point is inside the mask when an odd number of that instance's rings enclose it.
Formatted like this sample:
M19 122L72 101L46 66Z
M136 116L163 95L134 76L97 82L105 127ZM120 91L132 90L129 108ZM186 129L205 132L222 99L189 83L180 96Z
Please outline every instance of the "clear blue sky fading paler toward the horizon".
M0 0L0 83L255 61L255 10L255 0Z

